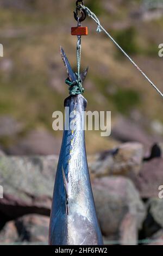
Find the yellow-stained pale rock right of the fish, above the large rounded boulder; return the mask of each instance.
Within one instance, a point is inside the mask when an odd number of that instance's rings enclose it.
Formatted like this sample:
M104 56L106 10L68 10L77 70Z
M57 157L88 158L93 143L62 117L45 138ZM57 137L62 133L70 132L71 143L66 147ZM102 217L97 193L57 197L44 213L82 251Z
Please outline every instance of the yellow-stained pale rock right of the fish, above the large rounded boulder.
M142 144L124 143L115 150L99 154L97 160L89 164L90 171L96 177L105 175L135 176L140 172L143 154Z

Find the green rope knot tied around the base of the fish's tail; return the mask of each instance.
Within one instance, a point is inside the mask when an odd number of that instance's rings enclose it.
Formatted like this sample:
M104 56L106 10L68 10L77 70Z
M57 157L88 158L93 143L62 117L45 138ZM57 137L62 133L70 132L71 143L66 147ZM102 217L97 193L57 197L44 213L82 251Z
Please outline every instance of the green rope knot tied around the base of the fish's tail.
M71 82L69 78L66 79L65 83L69 86L70 95L78 95L84 93L84 88L82 86L82 80Z

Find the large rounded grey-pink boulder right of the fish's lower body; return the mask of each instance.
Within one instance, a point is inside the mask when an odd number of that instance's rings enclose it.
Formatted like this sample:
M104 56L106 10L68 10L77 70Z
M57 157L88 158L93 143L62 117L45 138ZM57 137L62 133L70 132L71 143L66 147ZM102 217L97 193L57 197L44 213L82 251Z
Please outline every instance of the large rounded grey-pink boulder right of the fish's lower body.
M122 239L123 244L136 244L146 210L131 181L105 177L95 179L92 188L103 235L109 240Z

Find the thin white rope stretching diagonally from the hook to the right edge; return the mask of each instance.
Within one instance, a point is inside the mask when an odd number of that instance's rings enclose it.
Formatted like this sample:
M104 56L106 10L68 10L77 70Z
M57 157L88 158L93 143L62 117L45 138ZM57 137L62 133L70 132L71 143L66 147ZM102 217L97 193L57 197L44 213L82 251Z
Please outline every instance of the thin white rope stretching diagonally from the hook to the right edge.
M97 16L92 13L92 11L85 7L84 5L80 4L80 7L82 9L84 9L87 13L87 15L89 15L89 17L92 18L92 20L94 20L98 27L97 27L97 32L102 32L104 31L106 35L109 36L109 38L114 42L114 44L119 48L119 50L130 60L130 62L141 72L141 74L147 79L147 81L151 84L151 86L163 97L163 94L160 92L160 90L155 86L155 84L147 77L147 75L139 68L139 66L136 65L136 63L128 56L128 54L121 48L120 45L118 45L118 43L114 40L114 38L112 38L112 36L103 28L103 26L101 25L101 23L99 22Z

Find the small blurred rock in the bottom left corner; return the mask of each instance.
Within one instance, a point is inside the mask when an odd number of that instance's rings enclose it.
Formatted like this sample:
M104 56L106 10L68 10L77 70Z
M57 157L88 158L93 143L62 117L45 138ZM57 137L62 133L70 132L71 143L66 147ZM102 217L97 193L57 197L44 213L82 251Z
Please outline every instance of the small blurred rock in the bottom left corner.
M14 221L9 221L0 231L0 243L13 243L18 241L18 233Z

